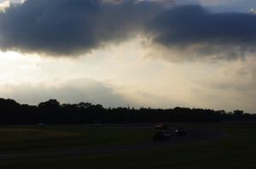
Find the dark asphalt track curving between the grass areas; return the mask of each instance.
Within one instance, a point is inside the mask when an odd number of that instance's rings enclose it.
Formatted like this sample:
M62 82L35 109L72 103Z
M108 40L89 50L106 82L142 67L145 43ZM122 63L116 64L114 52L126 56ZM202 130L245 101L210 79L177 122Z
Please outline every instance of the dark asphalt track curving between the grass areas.
M143 129L138 127L138 129ZM29 153L29 154L13 154L13 155L0 155L0 161L8 160L21 160L21 159L36 159L36 158L51 158L51 157L66 157L74 155L96 155L96 154L108 154L125 150L143 150L154 149L166 145L186 144L186 143L200 143L207 141L214 141L224 138L226 133L219 129L212 128L194 128L187 130L187 134L184 136L176 136L172 134L170 140L166 142L152 142L147 144L134 144L115 146L108 148L97 149L67 149L59 151L49 151L43 153Z

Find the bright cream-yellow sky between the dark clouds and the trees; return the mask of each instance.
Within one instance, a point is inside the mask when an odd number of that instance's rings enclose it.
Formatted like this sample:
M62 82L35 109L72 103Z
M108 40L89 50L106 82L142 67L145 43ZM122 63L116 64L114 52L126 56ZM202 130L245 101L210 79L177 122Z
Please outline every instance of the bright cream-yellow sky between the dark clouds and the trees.
M248 97L239 90L239 87L253 86L251 78L236 81L240 75L236 72L253 71L251 66L245 66L247 62L234 61L231 65L228 62L166 62L148 57L149 51L141 41L137 37L77 59L1 53L0 92L2 97L29 104L55 98L62 103L91 101L106 107L129 104L256 110L250 101L255 96ZM255 63L255 60L249 62ZM230 74L232 71L235 73ZM236 87L229 88L230 82L236 83Z

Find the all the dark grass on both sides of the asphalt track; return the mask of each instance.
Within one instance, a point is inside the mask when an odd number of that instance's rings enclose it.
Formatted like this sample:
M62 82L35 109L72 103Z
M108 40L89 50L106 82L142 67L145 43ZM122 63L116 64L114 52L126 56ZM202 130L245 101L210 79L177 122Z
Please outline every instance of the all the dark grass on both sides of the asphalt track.
M0 168L256 168L255 123L183 124L183 126L220 127L227 132L227 137L205 143L177 144L102 155L0 161ZM33 127L4 128L0 132L1 152L38 151L46 147L47 149L67 149L72 147L89 148L116 144L136 144L151 141L152 135L150 129L102 129L67 126L38 128L37 131L34 131ZM17 130L19 133L20 128L25 134L21 134L22 137L17 134L17 138L6 142L4 135L12 135L6 131L13 132ZM45 131L50 131L51 134L48 135ZM41 132L44 137L41 134L39 134L39 137L38 132ZM37 137L34 138L32 135Z

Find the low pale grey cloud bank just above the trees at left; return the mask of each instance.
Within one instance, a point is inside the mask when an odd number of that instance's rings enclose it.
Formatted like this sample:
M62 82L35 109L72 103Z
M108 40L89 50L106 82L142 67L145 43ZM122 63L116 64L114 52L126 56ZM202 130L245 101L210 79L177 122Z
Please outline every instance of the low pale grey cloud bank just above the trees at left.
M135 105L108 84L87 78L61 82L61 84L55 85L48 85L47 83L1 85L0 91L1 97L16 99L20 103L26 104L38 104L48 99L58 99L61 103L79 103L83 101L102 104L105 107Z

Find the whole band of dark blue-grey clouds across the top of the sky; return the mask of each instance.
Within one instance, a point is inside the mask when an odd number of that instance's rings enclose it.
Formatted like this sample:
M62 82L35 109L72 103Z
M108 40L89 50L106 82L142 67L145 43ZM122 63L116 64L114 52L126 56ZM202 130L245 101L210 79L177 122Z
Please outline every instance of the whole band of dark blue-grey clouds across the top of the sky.
M166 48L236 59L254 53L256 15L166 1L27 0L0 14L0 48L75 55L141 33ZM189 57L189 56L188 56Z

